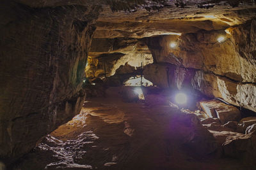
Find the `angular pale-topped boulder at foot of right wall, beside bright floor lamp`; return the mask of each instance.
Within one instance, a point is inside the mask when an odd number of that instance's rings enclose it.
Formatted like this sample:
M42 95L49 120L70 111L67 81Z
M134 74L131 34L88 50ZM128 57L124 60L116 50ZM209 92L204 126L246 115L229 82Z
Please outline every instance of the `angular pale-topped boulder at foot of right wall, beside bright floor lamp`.
M212 118L220 118L221 124L229 121L239 121L241 118L240 111L235 107L218 100L201 101L201 108Z

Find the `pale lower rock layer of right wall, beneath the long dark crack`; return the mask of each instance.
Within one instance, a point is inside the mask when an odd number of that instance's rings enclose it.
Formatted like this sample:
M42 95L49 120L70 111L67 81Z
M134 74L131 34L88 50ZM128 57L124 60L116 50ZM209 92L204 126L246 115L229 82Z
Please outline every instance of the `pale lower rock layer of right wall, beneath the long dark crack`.
M256 85L254 84L239 85L236 81L203 71L196 71L191 83L194 89L205 96L221 97L228 103L236 106L241 103L244 108L256 111L256 96L254 95Z

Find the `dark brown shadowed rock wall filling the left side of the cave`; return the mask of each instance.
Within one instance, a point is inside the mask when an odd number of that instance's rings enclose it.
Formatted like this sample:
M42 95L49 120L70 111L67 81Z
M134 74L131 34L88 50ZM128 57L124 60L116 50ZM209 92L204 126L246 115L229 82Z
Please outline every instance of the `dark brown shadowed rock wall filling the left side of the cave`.
M10 163L79 113L99 10L1 4L0 159Z

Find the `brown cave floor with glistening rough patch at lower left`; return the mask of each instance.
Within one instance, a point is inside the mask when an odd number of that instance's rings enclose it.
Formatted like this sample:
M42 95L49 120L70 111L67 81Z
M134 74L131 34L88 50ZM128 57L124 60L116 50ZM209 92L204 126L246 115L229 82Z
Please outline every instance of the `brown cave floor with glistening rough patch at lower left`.
M116 89L107 94L88 99L14 169L248 169L236 159L182 149L168 129L172 108L124 103Z

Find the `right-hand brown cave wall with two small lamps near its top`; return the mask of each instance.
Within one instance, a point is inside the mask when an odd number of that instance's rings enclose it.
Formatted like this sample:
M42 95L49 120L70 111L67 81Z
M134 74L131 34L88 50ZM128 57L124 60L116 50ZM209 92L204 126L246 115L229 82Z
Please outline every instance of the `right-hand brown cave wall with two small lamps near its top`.
M157 63L193 70L190 72L195 74L186 77L186 84L192 85L193 89L208 97L222 97L228 103L256 111L255 24L255 20L251 20L227 30L144 40ZM218 42L220 36L223 36L223 42ZM176 46L172 48L170 43ZM184 74L184 71L175 70L178 75ZM178 83L176 87L179 88L177 76L171 77L173 80L170 81ZM147 76L150 81L154 78L153 74L151 78Z

